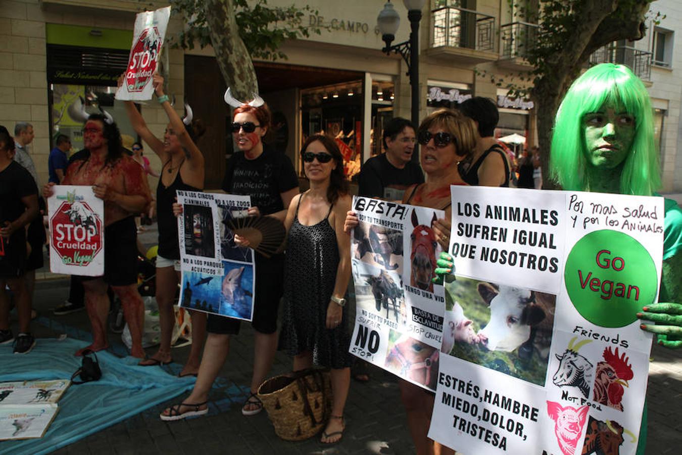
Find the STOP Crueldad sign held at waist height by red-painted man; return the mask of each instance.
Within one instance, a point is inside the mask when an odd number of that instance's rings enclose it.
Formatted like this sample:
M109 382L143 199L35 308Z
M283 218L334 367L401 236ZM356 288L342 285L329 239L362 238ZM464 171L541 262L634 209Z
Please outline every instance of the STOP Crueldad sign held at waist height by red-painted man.
M104 201L91 186L55 185L48 199L50 271L104 275Z

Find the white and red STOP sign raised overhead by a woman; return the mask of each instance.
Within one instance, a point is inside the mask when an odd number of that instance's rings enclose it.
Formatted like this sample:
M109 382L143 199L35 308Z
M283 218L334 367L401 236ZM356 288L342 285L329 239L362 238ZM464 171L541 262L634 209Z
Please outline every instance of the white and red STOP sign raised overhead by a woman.
M151 100L151 78L157 72L169 18L170 6L136 14L128 67L116 91L117 100Z

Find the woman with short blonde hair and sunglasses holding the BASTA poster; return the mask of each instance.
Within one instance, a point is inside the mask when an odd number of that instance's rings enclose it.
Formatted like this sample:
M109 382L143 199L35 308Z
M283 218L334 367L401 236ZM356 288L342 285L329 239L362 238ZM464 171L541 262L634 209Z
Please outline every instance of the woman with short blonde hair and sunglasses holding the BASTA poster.
M426 174L426 183L408 188L402 202L445 210L445 219L436 220L432 226L436 240L444 250L449 247L450 186L466 185L457 170L457 164L471 155L477 138L473 121L459 111L449 109L441 109L426 117L417 132L417 141L421 145L419 158ZM346 231L351 231L357 223L357 216L349 211ZM454 453L426 436L433 411L433 392L403 379L398 379L398 384L417 454Z

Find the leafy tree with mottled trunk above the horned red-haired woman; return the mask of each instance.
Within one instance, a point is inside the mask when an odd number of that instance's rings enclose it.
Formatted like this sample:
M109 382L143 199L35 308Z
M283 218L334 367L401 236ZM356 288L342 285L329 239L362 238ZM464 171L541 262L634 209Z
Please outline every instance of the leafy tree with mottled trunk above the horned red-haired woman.
M187 20L175 46L191 49L195 44L201 48L211 44L220 72L238 100L250 100L258 93L252 57L286 58L279 50L284 40L320 33L301 22L306 14L317 14L309 5L271 7L267 0L170 0L170 5Z

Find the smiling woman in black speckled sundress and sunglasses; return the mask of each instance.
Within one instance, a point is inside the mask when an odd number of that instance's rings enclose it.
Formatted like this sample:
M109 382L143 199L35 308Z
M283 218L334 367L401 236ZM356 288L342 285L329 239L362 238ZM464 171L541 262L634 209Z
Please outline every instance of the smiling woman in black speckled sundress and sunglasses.
M288 246L280 349L293 355L294 370L312 364L331 368L333 405L321 441L335 443L343 435L353 363L344 298L351 278L351 237L344 232L351 196L333 139L310 136L301 158L310 190L294 197L284 222Z

